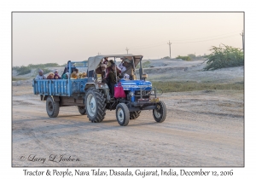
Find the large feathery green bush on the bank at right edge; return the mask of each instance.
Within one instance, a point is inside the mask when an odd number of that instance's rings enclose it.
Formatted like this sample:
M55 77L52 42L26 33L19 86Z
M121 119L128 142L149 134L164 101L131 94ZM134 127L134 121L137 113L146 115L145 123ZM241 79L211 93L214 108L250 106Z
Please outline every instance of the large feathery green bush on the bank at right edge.
M224 47L212 46L212 53L207 55L207 66L204 70L216 70L224 67L243 66L244 55L241 49L224 45Z

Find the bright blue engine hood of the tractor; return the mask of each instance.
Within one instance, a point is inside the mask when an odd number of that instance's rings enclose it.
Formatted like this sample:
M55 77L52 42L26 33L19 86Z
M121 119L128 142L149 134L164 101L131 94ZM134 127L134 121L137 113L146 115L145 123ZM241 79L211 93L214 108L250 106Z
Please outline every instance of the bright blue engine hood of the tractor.
M125 80L121 79L120 84L124 90L151 90L152 84L143 80Z

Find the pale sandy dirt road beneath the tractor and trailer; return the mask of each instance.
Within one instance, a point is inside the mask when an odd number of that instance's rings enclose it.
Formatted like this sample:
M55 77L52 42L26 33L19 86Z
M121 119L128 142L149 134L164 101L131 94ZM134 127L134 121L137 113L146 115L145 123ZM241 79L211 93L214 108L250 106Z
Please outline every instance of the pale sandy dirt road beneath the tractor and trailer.
M13 86L13 166L243 166L243 91L166 93L152 111L119 126L115 112L90 123L76 107L49 118L32 86Z

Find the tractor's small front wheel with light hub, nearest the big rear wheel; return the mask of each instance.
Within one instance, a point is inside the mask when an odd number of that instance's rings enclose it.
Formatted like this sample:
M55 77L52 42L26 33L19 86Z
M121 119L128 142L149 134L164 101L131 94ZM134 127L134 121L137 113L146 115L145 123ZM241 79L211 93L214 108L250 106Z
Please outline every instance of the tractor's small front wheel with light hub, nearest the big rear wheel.
M119 103L116 107L116 119L119 122L120 125L125 126L129 124L130 121L130 113L128 107L125 105L125 103Z

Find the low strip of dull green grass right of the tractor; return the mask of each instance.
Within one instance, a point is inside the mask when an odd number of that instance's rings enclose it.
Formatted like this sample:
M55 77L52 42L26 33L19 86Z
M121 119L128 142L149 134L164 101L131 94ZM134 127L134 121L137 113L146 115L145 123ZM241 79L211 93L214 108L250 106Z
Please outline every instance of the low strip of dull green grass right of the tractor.
M183 92L193 90L244 90L244 84L197 83L189 82L152 82L154 87L166 92Z

